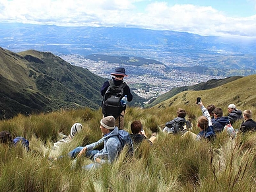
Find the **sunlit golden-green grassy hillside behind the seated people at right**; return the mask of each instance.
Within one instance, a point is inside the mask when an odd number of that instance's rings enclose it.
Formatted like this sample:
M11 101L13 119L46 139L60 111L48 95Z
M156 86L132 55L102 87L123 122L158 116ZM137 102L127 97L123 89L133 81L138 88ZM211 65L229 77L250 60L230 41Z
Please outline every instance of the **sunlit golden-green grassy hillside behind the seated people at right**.
M238 108L243 106L255 106L256 100L256 75L241 77L232 82L222 84L208 90L187 90L180 92L172 98L157 104L153 108L166 108L168 106L191 106L195 104L197 97L201 97L203 103L215 106L227 106L234 103ZM224 110L224 112L226 112Z

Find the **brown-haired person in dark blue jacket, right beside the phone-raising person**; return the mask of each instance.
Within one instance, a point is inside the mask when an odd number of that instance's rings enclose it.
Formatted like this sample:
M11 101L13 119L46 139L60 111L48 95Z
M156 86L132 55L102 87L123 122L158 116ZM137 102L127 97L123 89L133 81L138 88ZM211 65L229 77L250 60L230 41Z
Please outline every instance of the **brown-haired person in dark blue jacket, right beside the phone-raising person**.
M215 133L221 133L226 124L230 121L228 117L223 117L223 111L221 108L215 108L213 110L212 127Z

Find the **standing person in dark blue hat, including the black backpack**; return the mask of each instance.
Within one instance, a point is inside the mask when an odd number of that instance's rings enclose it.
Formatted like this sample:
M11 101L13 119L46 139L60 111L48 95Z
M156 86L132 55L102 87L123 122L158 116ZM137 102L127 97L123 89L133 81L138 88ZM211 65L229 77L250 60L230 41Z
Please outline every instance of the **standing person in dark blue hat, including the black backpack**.
M121 99L127 96L127 101L131 102L133 95L129 86L123 81L123 78L127 77L125 68L117 67L111 75L113 75L112 79L106 80L100 89L100 94L104 97L102 113L104 117L113 115L115 117L115 126L123 129L126 105L121 105Z

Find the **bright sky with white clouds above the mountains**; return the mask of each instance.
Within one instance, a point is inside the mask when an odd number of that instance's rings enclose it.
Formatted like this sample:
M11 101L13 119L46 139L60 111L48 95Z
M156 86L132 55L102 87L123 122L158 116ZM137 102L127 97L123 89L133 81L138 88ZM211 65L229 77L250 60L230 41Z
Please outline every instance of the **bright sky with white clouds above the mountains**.
M256 38L256 0L0 0L0 22Z

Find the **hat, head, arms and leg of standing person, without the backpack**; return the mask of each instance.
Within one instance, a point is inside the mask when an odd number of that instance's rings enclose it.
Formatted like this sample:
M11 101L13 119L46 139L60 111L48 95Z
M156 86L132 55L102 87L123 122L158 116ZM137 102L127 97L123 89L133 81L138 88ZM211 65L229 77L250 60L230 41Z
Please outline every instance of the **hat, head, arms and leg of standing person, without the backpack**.
M128 76L128 75L126 75L125 68L123 68L123 67L115 68L115 71L113 73L111 73L111 75L113 75L112 80L113 80L113 84L115 84L115 86L120 86L120 84L123 83L123 78ZM104 82L104 84L102 85L102 88L100 89L100 94L103 97L104 97L106 91L108 90L109 86L110 86L110 82L109 82L109 80L106 80ZM131 102L131 100L133 100L133 94L131 94L131 90L128 85L126 85L123 88L123 96L125 96L125 95L127 95L128 102ZM115 119L115 126L117 126L119 129L123 129L123 127L124 127L125 109L126 109L126 106L123 107L123 111L121 112L119 117L117 117Z

